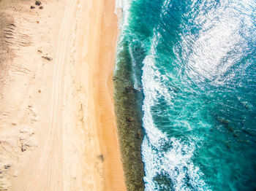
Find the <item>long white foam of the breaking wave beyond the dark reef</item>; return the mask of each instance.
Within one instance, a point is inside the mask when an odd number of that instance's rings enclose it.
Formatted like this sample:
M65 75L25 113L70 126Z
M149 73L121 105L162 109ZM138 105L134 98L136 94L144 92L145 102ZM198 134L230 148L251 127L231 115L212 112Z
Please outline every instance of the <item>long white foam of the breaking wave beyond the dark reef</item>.
M165 1L162 14L167 12L170 1ZM158 28L154 30L151 49L143 61L143 128L146 136L143 139L142 155L146 176L144 177L146 190L208 190L202 179L202 172L192 163L195 146L190 142L183 142L174 137L167 138L165 133L154 124L151 107L157 104L159 98L164 98L168 105L172 104L173 95L170 89L162 83L163 74L156 64L157 46L159 39ZM166 147L167 146L167 147ZM158 181L156 182L156 179ZM161 184L160 180L165 184Z

